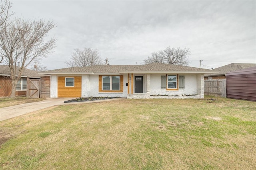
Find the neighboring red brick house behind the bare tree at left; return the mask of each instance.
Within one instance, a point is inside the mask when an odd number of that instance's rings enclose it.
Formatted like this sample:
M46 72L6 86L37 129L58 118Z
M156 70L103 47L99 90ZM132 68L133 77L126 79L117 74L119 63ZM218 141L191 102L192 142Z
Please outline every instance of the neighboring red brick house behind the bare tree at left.
M16 96L26 96L27 78L40 78L42 76L36 71L25 68L16 86ZM0 97L9 97L12 92L12 80L10 79L10 68L7 65L0 65Z

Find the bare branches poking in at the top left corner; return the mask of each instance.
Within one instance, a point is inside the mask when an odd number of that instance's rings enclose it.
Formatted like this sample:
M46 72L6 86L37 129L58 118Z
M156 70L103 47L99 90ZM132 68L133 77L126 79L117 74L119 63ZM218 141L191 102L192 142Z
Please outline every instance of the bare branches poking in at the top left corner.
M1 0L0 3L0 27L8 20L10 16L14 14L14 12L10 13L10 8L12 3L9 0ZM1 31L1 29L0 29ZM0 56L0 63L3 61L4 56Z

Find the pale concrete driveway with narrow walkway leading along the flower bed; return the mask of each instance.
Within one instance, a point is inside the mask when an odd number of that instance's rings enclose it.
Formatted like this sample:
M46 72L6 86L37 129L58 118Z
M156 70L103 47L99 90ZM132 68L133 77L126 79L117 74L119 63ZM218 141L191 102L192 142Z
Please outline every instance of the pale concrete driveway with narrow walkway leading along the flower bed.
M19 115L24 115L26 113L37 111L40 109L45 109L47 107L56 106L56 105L95 103L95 102L104 102L104 101L110 101L110 100L122 100L124 98L94 100L94 101L90 101L90 102L64 103L64 101L71 100L71 99L74 99L74 98L51 98L51 99L46 99L46 100L43 100L40 102L33 102L33 103L20 104L20 105L16 105L16 106L3 107L3 108L0 108L0 121L10 119L12 117L16 117Z

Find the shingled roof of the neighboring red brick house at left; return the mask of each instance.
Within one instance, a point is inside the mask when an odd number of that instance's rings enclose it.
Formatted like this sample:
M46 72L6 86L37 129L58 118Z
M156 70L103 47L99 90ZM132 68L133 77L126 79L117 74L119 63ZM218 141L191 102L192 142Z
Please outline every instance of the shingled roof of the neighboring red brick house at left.
M18 72L18 69L20 67L16 66L16 70ZM17 74L16 74L17 75ZM10 76L10 68L8 65L0 65L0 76ZM27 69L27 68L24 68L24 71L22 72L22 75L23 77L41 77L41 76L44 76L42 74L38 74L36 71L34 70L30 70L30 69Z

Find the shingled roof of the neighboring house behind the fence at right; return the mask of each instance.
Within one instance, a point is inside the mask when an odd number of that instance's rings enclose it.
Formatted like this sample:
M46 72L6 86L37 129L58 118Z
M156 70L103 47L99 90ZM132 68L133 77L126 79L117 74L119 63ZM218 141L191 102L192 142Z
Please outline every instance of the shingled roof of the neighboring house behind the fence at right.
M242 70L244 68L250 68L254 67L256 64L250 64L250 63L231 63L225 66L221 66L218 68L214 68L214 71L218 71L218 73L212 73L212 74L205 74L205 77L211 77L211 76L224 76L229 71L235 71L235 70Z

